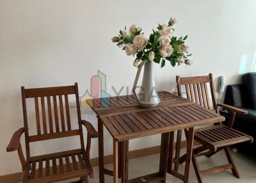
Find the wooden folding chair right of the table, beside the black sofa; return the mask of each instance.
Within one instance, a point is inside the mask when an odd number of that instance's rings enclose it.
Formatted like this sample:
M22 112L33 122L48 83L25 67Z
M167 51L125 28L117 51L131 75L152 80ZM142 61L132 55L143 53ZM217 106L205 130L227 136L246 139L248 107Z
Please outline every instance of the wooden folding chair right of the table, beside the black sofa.
M239 173L237 171L234 160L232 159L232 155L230 154L230 146L248 141L250 143L253 142L253 138L251 136L247 136L239 131L232 129L234 124L234 119L236 113L241 113L246 115L248 112L243 109L238 109L233 106L228 106L226 104L217 104L215 92L214 92L214 83L212 79L212 74L209 76L197 76L197 77L176 77L177 79L177 90L178 94L184 97L182 94L186 94L187 99L203 106L209 110L214 110L216 113L218 112L218 107L223 107L230 111L230 121L228 125L222 125L221 123L216 123L214 126L205 127L201 129L197 129L195 132L195 140L198 141L201 146L193 149L193 157L192 162L195 168L196 177L198 182L203 182L203 177L205 175L211 173L217 173L219 171L224 171L227 169L231 169L232 173L239 179ZM184 86L186 93L182 93L181 86ZM208 90L211 90L211 100L209 98ZM191 111L188 110L189 113ZM196 113L195 113L196 114ZM195 115L193 114L193 115ZM202 115L207 115L207 113L202 113ZM195 119L200 118L200 116L194 116ZM187 136L187 131L185 130L185 134ZM175 170L177 171L179 168L179 163L184 163L186 160L186 154L180 157L180 141L181 141L181 131L177 133L177 148L175 152ZM220 150L225 150L225 154L227 155L228 164L221 165L215 168L210 168L207 170L200 170L198 166L198 162L196 157L200 155L207 155L207 157L211 157L211 155L216 154ZM169 166L172 167L172 166Z

